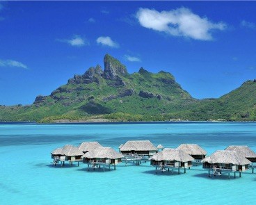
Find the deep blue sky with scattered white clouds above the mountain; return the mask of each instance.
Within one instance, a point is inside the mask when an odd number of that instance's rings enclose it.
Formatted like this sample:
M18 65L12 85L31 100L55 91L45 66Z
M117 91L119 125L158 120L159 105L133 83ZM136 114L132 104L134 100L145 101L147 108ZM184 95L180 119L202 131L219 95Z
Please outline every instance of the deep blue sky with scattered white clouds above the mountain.
M255 1L0 1L0 104L31 104L104 54L193 97L256 78Z

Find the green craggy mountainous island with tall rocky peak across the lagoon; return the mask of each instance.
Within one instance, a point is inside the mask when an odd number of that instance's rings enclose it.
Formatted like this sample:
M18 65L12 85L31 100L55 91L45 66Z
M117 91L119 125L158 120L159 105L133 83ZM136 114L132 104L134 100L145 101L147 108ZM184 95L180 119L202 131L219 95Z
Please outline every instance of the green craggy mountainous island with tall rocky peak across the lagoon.
M256 81L218 99L195 99L175 77L141 67L129 74L109 54L104 69L75 74L51 95L38 95L29 106L0 106L0 122L148 122L255 121Z

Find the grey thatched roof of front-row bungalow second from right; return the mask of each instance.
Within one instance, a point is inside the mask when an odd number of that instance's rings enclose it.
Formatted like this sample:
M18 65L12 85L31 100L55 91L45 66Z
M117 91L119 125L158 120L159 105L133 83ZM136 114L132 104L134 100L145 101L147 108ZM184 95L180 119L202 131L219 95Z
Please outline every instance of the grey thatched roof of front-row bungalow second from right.
M193 161L193 157L189 154L186 154L185 151L180 149L170 149L166 148L163 151L154 154L151 158L154 161L179 161L179 162L188 162Z

